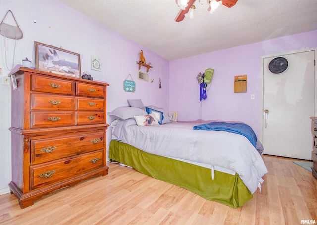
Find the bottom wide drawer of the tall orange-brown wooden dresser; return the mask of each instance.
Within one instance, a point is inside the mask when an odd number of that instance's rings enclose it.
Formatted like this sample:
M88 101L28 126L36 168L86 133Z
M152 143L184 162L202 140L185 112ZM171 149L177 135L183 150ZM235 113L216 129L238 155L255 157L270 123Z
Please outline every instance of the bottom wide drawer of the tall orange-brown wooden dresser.
M103 151L95 151L30 166L30 190L57 183L103 166Z

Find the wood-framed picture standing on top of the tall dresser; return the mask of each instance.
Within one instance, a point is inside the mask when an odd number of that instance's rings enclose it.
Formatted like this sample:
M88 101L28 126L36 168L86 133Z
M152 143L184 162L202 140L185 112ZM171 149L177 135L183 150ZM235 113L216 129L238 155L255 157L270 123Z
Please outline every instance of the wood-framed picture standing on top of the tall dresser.
M79 54L36 41L34 44L36 70L81 77Z

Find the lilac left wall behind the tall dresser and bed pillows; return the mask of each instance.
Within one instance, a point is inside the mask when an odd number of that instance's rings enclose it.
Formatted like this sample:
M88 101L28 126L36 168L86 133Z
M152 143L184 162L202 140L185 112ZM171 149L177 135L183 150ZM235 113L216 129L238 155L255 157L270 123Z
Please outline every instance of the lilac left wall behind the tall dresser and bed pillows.
M22 64L28 57L35 66L34 41L80 54L81 71L88 71L94 80L106 81L107 111L119 106L128 106L127 99L142 99L145 105L157 105L168 109L169 106L169 61L149 51L141 45L110 30L104 25L68 7L58 0L0 0L0 18L11 10L23 32L23 38L17 41L14 65ZM56 14L57 13L57 14ZM54 16L57 15L57 16ZM14 25L11 16L5 22ZM0 37L0 68L3 75L9 73L5 66L4 37ZM11 66L13 59L13 40L7 40L7 52ZM140 50L144 51L149 70L149 79L145 82L138 79ZM101 60L101 71L91 70L91 56ZM146 71L143 67L141 71ZM136 83L136 91L125 92L123 81L131 74ZM162 88L159 88L161 78ZM1 78L2 79L2 78ZM129 76L128 79L131 79ZM7 188L11 181L11 87L0 85L0 191ZM9 119L8 119L9 118ZM107 117L107 122L111 118ZM107 145L111 139L111 129L107 132Z

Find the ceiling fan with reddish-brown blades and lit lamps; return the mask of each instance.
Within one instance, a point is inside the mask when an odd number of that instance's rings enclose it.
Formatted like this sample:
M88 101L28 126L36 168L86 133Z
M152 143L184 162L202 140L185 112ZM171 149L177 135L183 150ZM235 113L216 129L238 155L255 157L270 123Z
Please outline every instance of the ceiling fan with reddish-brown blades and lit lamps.
M185 18L185 14L188 13L189 9L195 8L195 1L196 0L176 0L177 5L181 8L181 10L175 18L176 22L183 21L183 19ZM212 13L218 7L219 4L231 8L237 3L237 1L238 0L207 0L208 4L210 5L208 11ZM202 3L202 0L200 0L200 2Z

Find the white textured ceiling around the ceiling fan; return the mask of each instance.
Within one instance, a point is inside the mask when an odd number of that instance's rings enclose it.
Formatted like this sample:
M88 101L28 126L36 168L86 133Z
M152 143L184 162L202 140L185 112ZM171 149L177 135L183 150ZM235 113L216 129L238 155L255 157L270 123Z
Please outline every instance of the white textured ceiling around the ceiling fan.
M167 60L317 30L317 0L238 0L213 14L196 0L181 22L176 0L60 1Z

